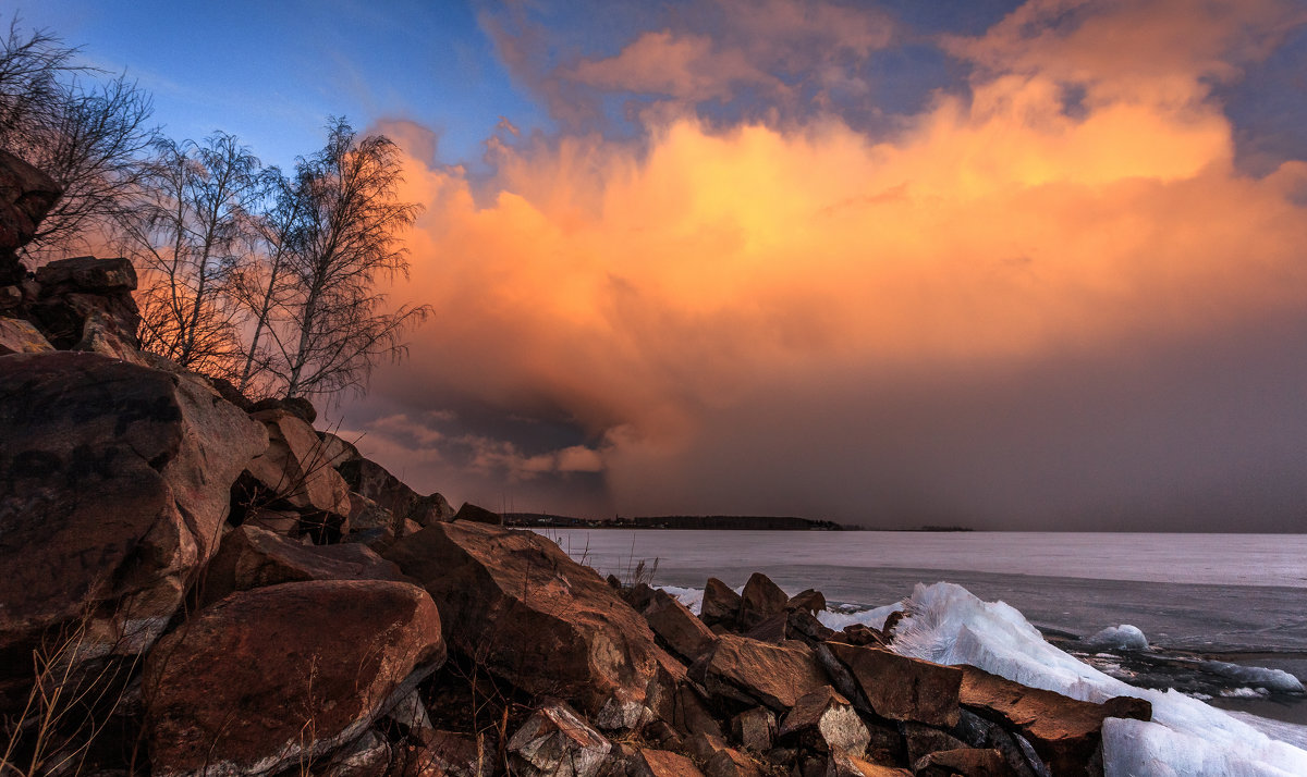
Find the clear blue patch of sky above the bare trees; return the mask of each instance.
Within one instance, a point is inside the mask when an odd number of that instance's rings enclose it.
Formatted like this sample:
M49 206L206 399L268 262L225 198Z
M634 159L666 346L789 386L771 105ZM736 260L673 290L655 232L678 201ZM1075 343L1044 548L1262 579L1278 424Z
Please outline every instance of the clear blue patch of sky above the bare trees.
M267 163L315 150L329 115L420 121L448 159L477 159L501 116L549 127L464 3L42 0L17 13L137 78L170 136L233 132Z

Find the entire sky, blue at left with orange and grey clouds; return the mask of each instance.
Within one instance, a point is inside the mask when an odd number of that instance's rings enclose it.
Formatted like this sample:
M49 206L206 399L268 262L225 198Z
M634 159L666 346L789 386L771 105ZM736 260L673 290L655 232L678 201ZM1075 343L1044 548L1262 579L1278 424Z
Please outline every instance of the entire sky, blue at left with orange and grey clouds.
M42 0L174 137L404 150L409 358L324 415L491 509L1307 530L1307 3Z

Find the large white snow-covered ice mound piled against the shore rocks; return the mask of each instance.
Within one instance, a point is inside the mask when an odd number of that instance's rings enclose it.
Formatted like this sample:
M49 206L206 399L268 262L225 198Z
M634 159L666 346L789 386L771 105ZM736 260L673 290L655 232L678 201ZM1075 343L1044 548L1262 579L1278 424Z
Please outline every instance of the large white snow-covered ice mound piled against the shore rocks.
M982 602L965 588L918 585L906 601L893 649L938 663L968 663L1010 680L1085 701L1137 696L1153 721L1103 723L1107 777L1287 777L1307 774L1307 751L1274 740L1247 722L1176 691L1136 688L1044 641L1002 602Z

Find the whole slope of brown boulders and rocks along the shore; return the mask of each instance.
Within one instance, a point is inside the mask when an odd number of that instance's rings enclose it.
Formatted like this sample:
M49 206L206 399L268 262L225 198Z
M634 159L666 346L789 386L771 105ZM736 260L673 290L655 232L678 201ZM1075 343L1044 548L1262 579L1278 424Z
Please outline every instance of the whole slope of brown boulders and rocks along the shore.
M125 260L27 274L55 197L0 153L0 774L1100 774L1103 720L1150 718L455 512L139 351Z

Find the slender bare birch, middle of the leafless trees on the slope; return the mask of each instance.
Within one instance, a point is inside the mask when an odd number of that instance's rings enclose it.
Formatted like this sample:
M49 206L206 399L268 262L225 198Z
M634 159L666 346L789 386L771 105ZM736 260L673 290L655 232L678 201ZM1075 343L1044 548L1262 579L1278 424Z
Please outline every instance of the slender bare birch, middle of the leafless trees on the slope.
M141 347L212 376L242 354L233 279L250 261L263 185L259 159L235 136L156 144L144 193L123 221L141 270Z

